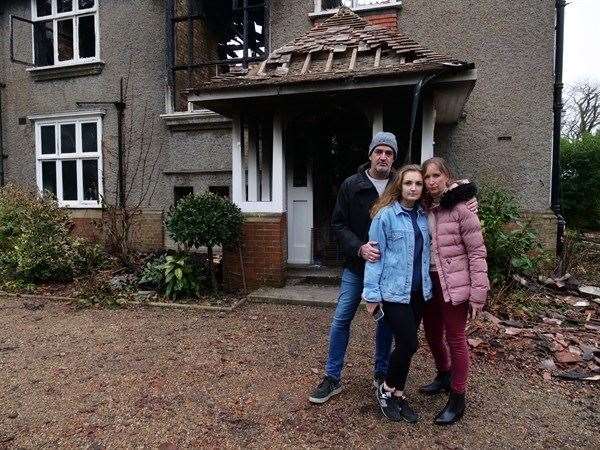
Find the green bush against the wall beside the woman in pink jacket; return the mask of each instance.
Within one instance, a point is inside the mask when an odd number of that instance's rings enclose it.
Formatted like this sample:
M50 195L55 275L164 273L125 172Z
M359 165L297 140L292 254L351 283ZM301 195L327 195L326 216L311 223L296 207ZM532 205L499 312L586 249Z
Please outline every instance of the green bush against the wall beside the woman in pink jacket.
M521 221L515 199L505 191L487 188L481 191L479 202L492 285L505 283L513 274L535 272L545 255L530 224Z

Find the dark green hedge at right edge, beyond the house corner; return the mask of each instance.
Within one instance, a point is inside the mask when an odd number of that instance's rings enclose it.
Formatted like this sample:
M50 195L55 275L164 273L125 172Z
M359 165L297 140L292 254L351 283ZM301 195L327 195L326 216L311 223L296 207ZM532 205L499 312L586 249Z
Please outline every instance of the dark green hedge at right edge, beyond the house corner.
M600 134L561 140L562 207L567 225L600 229Z

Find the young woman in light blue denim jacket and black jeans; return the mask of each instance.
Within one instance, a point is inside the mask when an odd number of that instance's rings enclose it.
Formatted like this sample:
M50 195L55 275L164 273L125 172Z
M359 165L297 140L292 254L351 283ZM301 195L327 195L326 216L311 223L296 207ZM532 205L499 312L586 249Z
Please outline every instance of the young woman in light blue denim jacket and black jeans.
M427 215L419 200L423 176L417 165L401 168L372 208L369 240L377 242L381 257L365 266L363 299L371 314L383 310L394 333L395 347L377 400L390 420L416 422L417 414L404 395L423 307L432 295L429 276L430 240Z

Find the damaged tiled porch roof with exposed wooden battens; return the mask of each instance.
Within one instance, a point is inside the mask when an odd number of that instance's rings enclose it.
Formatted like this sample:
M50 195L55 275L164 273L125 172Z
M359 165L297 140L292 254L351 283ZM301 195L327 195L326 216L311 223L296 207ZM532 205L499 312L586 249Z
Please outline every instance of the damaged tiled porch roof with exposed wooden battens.
M472 64L442 56L404 34L371 25L351 9L339 11L307 34L243 72L214 77L192 93L347 78L398 77Z

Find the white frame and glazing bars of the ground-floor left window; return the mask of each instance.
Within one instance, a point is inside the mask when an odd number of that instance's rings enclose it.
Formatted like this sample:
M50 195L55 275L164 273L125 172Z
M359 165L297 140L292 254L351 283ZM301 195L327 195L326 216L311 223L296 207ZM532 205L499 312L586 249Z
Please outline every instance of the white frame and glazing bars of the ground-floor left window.
M103 164L102 164L102 114L88 113L79 115L57 115L55 117L35 120L35 156L36 156L36 181L38 191L43 191L42 162L44 161L75 161L77 170L77 200L63 200L62 164L56 164L56 198L61 207L66 208L101 208L104 195ZM97 152L82 151L81 125L84 123L96 123ZM75 125L75 153L60 153L60 125ZM42 127L54 126L54 154L42 154ZM98 200L83 199L83 161L98 161Z

